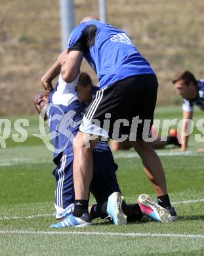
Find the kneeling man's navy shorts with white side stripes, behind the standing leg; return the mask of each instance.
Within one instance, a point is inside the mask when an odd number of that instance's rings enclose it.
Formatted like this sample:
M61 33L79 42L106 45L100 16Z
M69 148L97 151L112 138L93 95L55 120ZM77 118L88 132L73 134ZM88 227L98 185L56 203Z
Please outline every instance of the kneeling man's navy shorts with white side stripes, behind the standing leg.
M102 204L108 200L113 192L121 192L115 171L117 164L114 162L112 152L106 150L93 151L93 178L90 191L96 199L96 203ZM66 209L74 202L73 188L73 152L62 156L59 165L54 169L56 179L55 204L61 209Z

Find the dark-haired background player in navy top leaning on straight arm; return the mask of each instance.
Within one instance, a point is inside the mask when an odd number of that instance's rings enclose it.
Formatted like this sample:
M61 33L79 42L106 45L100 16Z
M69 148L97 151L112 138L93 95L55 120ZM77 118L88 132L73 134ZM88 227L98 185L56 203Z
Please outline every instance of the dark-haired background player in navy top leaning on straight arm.
M183 122L181 130L182 147L185 151L188 148L188 138L186 135L187 127L190 123L186 119L192 119L194 105L204 110L204 79L196 80L194 74L188 70L178 72L173 79L176 94L182 96L183 100Z

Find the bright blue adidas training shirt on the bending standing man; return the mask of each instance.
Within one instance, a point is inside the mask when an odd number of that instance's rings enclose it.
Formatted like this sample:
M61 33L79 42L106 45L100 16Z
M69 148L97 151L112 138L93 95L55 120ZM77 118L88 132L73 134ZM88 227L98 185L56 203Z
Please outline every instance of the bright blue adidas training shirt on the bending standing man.
M127 33L98 20L76 26L68 49L83 52L98 76L100 89L133 75L155 74Z

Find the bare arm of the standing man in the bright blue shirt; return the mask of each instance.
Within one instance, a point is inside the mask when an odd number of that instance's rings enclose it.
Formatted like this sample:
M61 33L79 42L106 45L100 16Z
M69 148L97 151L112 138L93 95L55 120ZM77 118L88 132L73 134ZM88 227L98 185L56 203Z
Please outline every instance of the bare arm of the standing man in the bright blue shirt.
M60 54L58 60L60 60L62 64L62 78L66 83L71 83L80 72L83 53L80 51L71 51L68 54L68 50L66 50Z

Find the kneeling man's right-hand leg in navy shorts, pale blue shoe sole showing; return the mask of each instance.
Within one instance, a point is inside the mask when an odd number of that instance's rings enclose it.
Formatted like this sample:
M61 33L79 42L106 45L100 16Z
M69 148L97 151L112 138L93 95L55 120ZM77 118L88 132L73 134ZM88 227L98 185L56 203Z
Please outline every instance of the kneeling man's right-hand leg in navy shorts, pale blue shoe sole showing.
M94 205L91 218L109 215L116 225L127 223L122 211L123 196L117 182L117 164L112 152L105 142L98 142L93 151L93 177L90 191L98 205Z

